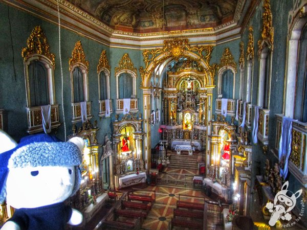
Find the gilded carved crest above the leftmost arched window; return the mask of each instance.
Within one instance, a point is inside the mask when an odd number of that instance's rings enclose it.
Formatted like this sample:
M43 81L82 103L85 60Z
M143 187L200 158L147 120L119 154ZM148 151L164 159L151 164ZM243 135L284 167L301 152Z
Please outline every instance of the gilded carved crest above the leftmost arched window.
M27 40L27 47L21 51L21 56L23 56L25 61L27 61L28 57L33 54L40 54L48 57L51 60L51 64L55 66L55 56L50 53L47 38L40 26L36 26L32 30L32 33Z

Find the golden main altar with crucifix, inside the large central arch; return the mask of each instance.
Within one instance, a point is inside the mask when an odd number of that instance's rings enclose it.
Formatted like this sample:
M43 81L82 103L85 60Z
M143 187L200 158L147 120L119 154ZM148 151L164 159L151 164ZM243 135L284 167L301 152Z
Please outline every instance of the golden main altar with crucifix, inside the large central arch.
M212 95L206 74L196 60L180 58L169 65L163 84L163 141L178 154L203 151Z

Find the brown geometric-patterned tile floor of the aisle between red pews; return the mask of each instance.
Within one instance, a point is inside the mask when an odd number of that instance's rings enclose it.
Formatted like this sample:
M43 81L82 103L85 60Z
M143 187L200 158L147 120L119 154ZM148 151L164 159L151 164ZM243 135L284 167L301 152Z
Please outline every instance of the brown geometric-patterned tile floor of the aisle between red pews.
M205 198L204 194L201 191L156 186L149 186L146 188L145 191L138 191L136 193L152 194L152 192L150 193L150 191L156 191L156 202L153 205L151 211L149 212L147 218L143 222L142 229L146 230L168 229L168 225L170 224L171 218L173 217L173 209L176 208L176 202L177 200L179 200L179 194L180 200L192 202L204 203L204 199L185 197L185 195Z

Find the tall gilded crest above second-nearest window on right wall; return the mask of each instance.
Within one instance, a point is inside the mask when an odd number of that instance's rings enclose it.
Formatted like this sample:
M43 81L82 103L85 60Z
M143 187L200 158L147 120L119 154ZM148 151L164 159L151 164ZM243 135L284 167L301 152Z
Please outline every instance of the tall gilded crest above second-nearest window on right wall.
M264 12L262 13L262 32L261 39L258 41L259 53L264 49L266 42L269 48L273 51L274 29L272 26L272 12L270 0L264 1Z

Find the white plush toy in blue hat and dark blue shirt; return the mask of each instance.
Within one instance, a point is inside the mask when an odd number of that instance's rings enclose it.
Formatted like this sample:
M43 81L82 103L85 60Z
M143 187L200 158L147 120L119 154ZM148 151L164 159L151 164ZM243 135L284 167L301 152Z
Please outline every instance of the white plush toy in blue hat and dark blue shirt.
M34 134L16 145L0 129L0 144L0 203L6 198L16 209L1 230L54 230L82 222L82 214L64 204L80 187L80 137L60 142Z

